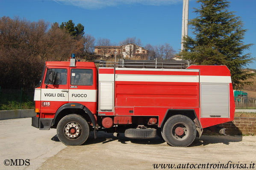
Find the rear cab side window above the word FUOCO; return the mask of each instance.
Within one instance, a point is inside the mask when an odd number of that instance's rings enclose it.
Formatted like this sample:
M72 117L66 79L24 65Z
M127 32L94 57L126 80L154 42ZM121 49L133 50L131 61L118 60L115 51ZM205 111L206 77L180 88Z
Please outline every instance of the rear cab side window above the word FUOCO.
M71 85L93 85L92 69L71 69Z

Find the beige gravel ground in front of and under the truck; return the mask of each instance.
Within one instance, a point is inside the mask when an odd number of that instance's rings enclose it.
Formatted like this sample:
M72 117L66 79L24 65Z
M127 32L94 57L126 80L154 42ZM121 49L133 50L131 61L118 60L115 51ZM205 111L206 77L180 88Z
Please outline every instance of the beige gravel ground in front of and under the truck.
M256 136L203 135L190 147L171 147L160 138L130 140L124 134L115 138L103 132L98 136L94 140L91 135L82 146L62 149L39 170L153 170L153 164L227 164L229 161L256 164Z

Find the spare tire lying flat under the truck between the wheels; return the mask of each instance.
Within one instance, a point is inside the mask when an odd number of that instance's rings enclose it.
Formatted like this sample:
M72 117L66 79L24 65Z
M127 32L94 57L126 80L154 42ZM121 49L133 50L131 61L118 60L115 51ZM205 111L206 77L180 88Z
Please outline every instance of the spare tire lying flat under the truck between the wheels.
M132 139L151 139L156 137L156 129L126 129L124 136Z

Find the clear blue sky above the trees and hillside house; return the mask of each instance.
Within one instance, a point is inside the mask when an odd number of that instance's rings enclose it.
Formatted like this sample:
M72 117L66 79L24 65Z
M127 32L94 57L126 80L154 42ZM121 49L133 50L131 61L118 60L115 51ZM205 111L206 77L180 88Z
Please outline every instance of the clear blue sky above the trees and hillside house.
M85 26L85 34L108 38L113 44L128 37L140 38L142 46L169 43L176 52L181 48L183 0L0 0L0 17L44 20L50 24L72 20ZM188 18L197 17L196 0L189 0ZM256 0L230 0L229 11L241 18L244 44L256 58ZM192 29L188 35L193 37ZM256 61L246 67L256 69Z

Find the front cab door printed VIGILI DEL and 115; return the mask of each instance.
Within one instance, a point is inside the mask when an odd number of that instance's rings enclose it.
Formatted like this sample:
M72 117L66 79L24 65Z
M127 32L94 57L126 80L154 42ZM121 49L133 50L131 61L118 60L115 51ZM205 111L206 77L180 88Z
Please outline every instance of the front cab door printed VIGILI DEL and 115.
M53 118L68 103L69 67L47 67L41 88L41 118Z

